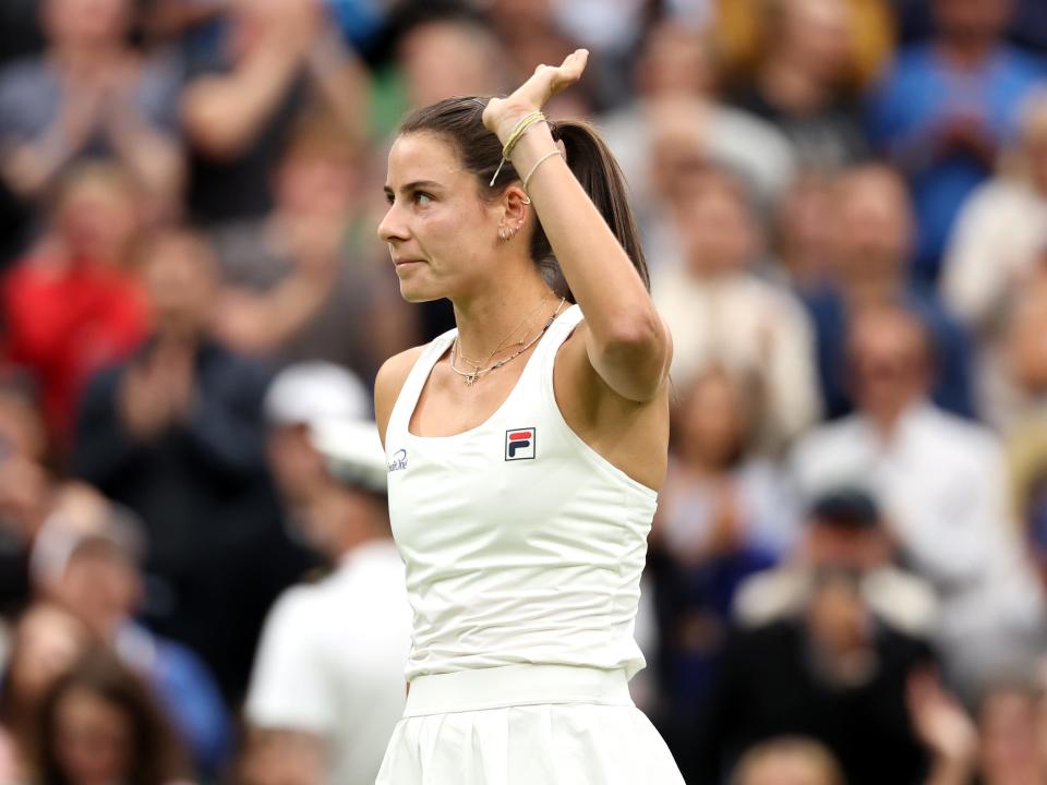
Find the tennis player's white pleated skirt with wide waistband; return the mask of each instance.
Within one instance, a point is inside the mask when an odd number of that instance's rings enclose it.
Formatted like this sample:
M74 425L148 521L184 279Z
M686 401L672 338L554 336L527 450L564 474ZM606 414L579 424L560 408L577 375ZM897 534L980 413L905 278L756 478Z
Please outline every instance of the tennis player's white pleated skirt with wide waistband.
M421 676L376 785L683 785L622 671L510 665Z

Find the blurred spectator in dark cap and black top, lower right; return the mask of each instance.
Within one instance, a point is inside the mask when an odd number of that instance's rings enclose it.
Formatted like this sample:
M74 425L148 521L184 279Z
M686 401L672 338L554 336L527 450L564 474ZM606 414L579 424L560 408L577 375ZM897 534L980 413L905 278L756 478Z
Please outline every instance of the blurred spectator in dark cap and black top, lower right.
M820 554L795 615L741 629L727 643L689 782L722 782L753 745L801 735L832 751L850 785L923 783L906 685L931 651L866 602L862 573L882 559L882 543L855 523L843 524L855 536L838 538L846 547Z

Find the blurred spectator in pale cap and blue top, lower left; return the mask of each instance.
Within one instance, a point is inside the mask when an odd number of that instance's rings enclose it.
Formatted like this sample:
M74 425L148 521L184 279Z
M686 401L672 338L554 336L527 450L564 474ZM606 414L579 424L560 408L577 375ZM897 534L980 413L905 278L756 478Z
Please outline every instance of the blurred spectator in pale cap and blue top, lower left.
M124 665L152 688L196 770L208 777L227 761L231 734L217 685L188 648L153 635L133 614L142 599L139 564L145 555L141 524L99 499L92 518L80 526L52 516L40 533L37 580L52 599L72 611L110 645Z

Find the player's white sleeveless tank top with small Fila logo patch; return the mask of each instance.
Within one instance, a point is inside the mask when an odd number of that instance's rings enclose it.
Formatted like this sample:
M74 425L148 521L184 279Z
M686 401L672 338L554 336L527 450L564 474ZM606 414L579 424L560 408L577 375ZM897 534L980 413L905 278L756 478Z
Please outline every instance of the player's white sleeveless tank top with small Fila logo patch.
M646 664L633 639L658 494L589 447L553 394L567 309L486 422L454 436L408 425L456 330L423 350L386 431L389 517L414 615L407 678L519 663Z

